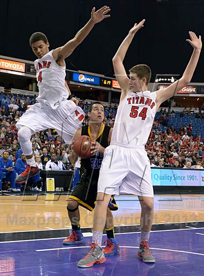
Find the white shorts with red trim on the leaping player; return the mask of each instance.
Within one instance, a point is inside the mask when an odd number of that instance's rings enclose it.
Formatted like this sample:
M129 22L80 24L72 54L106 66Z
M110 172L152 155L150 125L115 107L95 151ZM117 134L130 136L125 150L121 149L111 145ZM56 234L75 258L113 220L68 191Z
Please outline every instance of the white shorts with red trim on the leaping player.
M84 118L84 111L71 100L63 101L57 109L35 103L20 117L16 126L18 129L26 126L34 132L55 129L69 144L75 131L82 128Z

